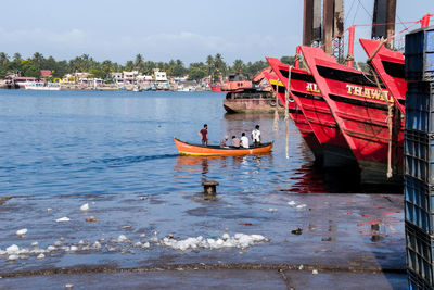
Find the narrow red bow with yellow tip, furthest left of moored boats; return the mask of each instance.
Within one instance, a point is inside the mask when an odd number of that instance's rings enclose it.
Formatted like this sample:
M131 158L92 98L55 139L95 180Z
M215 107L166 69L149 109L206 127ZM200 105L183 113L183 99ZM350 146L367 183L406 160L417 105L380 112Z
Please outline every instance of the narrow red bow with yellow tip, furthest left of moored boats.
M285 87L279 80L276 74L264 73L265 78L267 78L270 87L272 88L275 94L278 94L280 103L284 105L285 103ZM303 139L305 140L306 144L309 147L310 151L314 153L316 163L322 163L322 148L319 143L317 137L314 134L314 130L310 128L309 123L307 122L305 115L303 114L302 110L297 106L293 99L290 100L288 104L288 110L291 119L294 122L295 126L297 127L298 131L301 133Z

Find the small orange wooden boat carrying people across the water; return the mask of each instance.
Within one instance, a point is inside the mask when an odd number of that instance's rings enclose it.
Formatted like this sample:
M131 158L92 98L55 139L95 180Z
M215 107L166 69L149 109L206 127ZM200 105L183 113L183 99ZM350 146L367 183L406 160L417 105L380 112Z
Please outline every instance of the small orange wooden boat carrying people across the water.
M259 147L251 148L220 148L219 146L191 144L174 138L175 144L180 155L202 155L202 156L237 156L250 154L265 154L272 149L272 142L263 143Z

